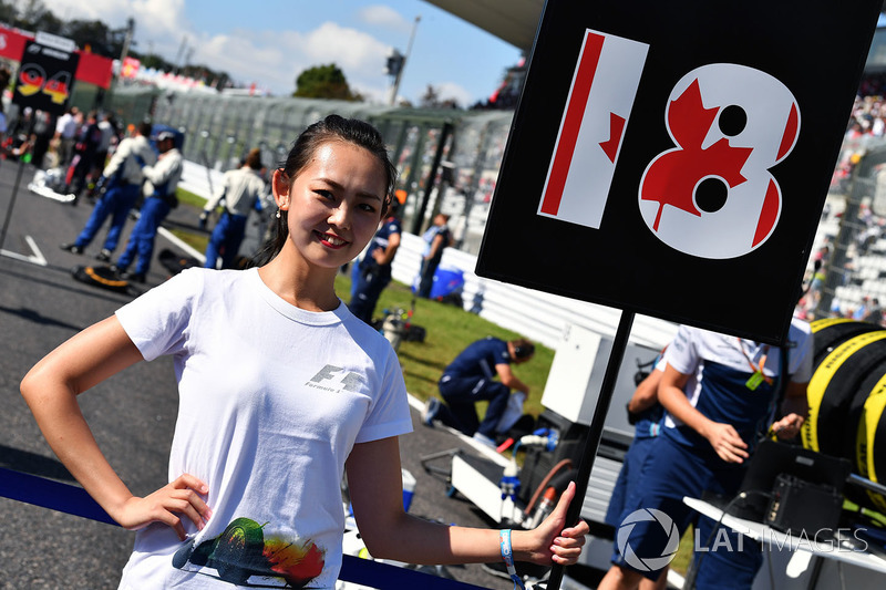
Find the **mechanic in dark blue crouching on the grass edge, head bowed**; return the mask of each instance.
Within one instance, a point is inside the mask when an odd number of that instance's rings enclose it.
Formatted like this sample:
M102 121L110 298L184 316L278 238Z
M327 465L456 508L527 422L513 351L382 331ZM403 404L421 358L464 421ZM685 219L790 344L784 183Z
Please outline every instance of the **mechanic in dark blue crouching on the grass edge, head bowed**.
M473 342L443 370L437 382L446 404L431 397L422 422L430 426L439 420L485 445L495 446L495 427L507 408L511 391L522 391L529 396L529 386L514 375L511 365L525 363L533 354L535 345L525 339L505 342L486 337ZM496 376L499 381L495 381ZM482 400L490 402L483 422L474 408Z

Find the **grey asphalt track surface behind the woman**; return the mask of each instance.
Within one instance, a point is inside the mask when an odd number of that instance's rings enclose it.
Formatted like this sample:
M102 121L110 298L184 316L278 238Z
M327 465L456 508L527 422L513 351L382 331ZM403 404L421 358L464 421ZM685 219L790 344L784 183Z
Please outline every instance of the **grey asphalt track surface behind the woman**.
M113 314L138 290L116 293L72 278L73 267L95 263L92 257L104 234L83 256L60 250L59 244L73 241L92 206L85 200L71 206L30 193L27 185L33 173L30 165L0 161L0 227L9 220L0 256L0 467L74 484L38 429L19 383L40 358ZM197 213L179 207L167 225L196 226ZM128 221L117 253L132 226ZM31 245L45 258L44 266L21 259L39 258ZM155 257L163 248L175 246L158 237ZM141 290L166 278L165 269L154 260ZM80 403L100 446L134 494L150 494L166 483L177 407L171 359L138 363L85 392ZM415 432L400 442L403 467L418 479L410 511L446 524L493 526L470 501L447 495L444 475L422 467L422 457L441 451L463 448L475 454L472 445L446 429L422 426L414 407L413 420ZM449 459L435 459L432 465L445 469ZM116 588L133 537L119 527L0 498L0 588ZM485 588L513 588L509 580L493 577L477 565L451 567L449 572Z

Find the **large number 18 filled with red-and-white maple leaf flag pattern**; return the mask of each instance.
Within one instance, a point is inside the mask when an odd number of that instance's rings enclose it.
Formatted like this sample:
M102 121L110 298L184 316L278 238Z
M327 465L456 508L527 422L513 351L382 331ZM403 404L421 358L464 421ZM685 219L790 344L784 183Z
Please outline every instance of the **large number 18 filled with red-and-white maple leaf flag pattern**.
M599 229L649 45L587 30L538 215ZM640 215L666 245L700 258L749 253L772 235L782 194L770 168L793 149L800 107L775 77L713 63L664 105L674 144L643 172Z

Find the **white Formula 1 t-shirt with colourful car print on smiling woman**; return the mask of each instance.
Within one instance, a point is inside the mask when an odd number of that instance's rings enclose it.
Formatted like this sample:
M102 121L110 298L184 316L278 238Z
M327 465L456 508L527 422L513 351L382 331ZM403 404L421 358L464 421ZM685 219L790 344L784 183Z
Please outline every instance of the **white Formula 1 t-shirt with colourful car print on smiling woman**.
M199 532L183 519L185 544L164 525L138 531L121 588L333 588L344 460L412 431L388 341L344 304L289 304L257 269L188 269L116 315L145 360L174 355L168 476L205 482L213 510Z

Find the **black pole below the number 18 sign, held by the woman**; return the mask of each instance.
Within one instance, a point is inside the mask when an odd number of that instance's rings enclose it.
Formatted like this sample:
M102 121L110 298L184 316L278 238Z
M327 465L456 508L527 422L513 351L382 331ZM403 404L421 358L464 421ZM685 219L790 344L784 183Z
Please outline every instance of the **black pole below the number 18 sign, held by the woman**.
M622 311L621 318L618 321L618 328L616 329L616 337L612 340L612 352L609 355L609 362L606 364L600 396L597 397L597 406L594 408L594 417L590 420L590 427L588 428L587 439L585 441L585 449L578 464L578 474L575 478L575 499L569 505L569 509L566 513L567 526L578 522L578 519L581 517L581 505L584 504L585 494L587 491L588 479L590 479L590 470L594 467L594 459L600 446L606 414L609 412L609 402L612 400L616 380L618 379L618 370L625 358L625 350L628 348L628 338L630 337L630 328L632 324L633 312ZM560 582L563 581L563 572L564 567L555 563L550 570L547 590L559 590Z

